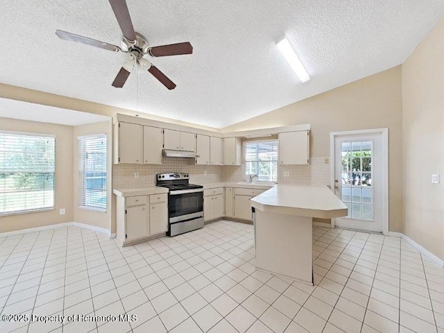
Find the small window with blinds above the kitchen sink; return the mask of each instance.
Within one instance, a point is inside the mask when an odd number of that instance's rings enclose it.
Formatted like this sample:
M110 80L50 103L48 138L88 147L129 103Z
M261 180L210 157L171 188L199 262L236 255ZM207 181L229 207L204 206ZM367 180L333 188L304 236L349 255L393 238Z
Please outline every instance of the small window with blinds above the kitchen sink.
M245 180L278 181L278 140L244 142Z

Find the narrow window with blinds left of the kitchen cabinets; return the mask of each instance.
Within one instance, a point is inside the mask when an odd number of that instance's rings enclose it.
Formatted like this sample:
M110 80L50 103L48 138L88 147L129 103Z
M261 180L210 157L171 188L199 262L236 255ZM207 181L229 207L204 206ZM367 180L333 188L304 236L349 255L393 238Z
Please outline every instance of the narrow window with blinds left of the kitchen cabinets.
M78 137L79 147L79 206L106 210L106 135Z

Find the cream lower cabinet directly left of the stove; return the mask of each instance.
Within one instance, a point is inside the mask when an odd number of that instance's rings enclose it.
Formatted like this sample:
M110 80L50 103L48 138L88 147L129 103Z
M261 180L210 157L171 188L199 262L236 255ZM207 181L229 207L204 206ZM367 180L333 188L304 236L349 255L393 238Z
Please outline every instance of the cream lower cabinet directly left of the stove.
M117 196L117 239L122 245L168 230L168 194Z

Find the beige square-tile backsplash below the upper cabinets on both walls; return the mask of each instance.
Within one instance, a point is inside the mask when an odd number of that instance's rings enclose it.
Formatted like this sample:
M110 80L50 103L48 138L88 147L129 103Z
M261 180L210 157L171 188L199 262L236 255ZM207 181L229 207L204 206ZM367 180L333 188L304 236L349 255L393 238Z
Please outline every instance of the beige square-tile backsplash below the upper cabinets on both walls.
M278 182L298 185L330 185L330 164L325 157L311 157L310 165L280 166ZM155 175L163 172L187 172L191 183L241 182L244 180L242 167L196 165L193 159L165 157L163 164L114 164L112 166L112 187L151 187ZM205 175L206 171L206 175ZM289 171L289 177L284 177ZM139 178L134 173L139 172Z

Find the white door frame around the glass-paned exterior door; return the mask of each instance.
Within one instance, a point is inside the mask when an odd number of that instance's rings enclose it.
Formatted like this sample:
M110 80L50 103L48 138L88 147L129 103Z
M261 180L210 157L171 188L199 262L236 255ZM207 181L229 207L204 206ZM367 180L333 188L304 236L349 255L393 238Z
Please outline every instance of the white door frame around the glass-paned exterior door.
M368 130L348 130L343 132L330 132L330 187L334 191L334 140L341 135L381 135L382 141L382 234L388 235L388 128L374 128ZM335 191L334 191L335 193ZM335 193L336 194L336 193ZM334 228L335 219L331 226Z

